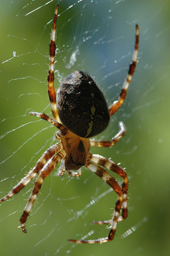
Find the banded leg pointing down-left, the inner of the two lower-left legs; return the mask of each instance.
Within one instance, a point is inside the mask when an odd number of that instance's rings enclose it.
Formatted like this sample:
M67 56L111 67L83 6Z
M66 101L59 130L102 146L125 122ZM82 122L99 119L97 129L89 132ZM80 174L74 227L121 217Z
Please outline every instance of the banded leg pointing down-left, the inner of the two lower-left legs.
M53 157L51 157L51 159L48 160L48 162L45 163L45 165L42 167L40 174L37 177L37 180L34 184L34 189L31 193L31 195L28 199L28 202L26 204L26 207L23 211L23 215L20 218L21 228L24 233L26 233L26 229L25 229L26 219L28 217L28 214L31 210L32 205L34 204L34 200L37 197L37 194L41 188L41 185L42 185L45 177L47 177L54 170L54 168L57 166L57 163L59 163L63 157L65 157L65 151L61 150L61 151L59 151L58 154L55 154Z

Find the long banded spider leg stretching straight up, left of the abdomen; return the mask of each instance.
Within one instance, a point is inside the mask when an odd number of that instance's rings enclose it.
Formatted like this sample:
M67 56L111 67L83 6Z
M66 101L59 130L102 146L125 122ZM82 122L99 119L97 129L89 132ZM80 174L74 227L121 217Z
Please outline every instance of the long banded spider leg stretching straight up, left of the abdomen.
M56 104L56 90L54 88L54 61L55 61L55 37L56 37L56 22L57 22L58 5L55 9L53 27L51 31L51 43L50 43L50 57L49 57L49 71L48 71L48 95L50 99L51 111L54 119L57 120L57 104Z

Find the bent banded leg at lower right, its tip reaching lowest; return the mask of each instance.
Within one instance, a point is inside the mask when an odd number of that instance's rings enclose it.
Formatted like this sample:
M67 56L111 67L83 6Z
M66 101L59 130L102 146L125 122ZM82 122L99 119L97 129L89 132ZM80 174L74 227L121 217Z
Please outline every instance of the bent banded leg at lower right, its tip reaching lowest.
M91 157L90 161L92 161L92 158L93 157ZM113 188L113 190L118 194L118 199L116 201L115 209L113 212L113 220L111 223L111 230L107 237L95 239L95 240L73 240L73 239L70 239L69 241L73 242L73 243L79 243L79 244L96 244L96 243L101 244L101 243L111 241L114 237L116 227L117 227L119 212L120 212L120 209L121 209L122 203L123 203L123 192L122 192L121 186L119 186L119 184L116 182L116 180L108 172L106 172L104 169L102 169L100 166L98 166L95 163L91 163L91 162L86 163L85 166L89 170L94 172L97 176L99 176L103 181L108 183L108 185L111 186Z

